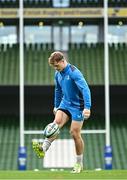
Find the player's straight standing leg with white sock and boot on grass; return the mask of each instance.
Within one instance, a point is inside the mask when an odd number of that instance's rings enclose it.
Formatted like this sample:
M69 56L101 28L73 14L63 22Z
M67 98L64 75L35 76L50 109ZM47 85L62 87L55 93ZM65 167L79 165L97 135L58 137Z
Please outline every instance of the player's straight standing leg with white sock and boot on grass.
M72 173L80 173L83 169L83 152L84 152L84 141L81 137L81 128L83 121L72 121L70 132L74 139L75 150L76 150L76 163L72 170Z

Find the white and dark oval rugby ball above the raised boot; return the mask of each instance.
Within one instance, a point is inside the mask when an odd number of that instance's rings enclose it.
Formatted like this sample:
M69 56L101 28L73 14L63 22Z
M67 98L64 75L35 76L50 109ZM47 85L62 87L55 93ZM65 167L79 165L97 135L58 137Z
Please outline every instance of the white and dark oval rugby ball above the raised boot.
M50 123L48 124L44 129L44 136L47 138L53 137L57 134L59 134L59 126L56 123Z

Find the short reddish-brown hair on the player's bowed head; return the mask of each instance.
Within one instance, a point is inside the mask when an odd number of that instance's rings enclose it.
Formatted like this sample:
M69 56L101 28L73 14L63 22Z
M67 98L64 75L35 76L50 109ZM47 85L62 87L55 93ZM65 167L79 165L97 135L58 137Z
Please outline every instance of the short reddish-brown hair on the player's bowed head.
M50 57L48 58L48 61L50 64L54 64L54 62L59 62L64 59L65 57L63 53L61 53L60 51L55 51L50 55Z

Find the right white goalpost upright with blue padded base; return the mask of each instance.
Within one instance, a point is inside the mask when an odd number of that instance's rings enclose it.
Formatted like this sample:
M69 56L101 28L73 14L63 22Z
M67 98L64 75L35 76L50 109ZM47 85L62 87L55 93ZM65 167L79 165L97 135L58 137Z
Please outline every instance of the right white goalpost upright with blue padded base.
M109 95L109 49L108 49L108 0L104 0L104 77L105 77L105 169L112 169L110 145L110 95Z

